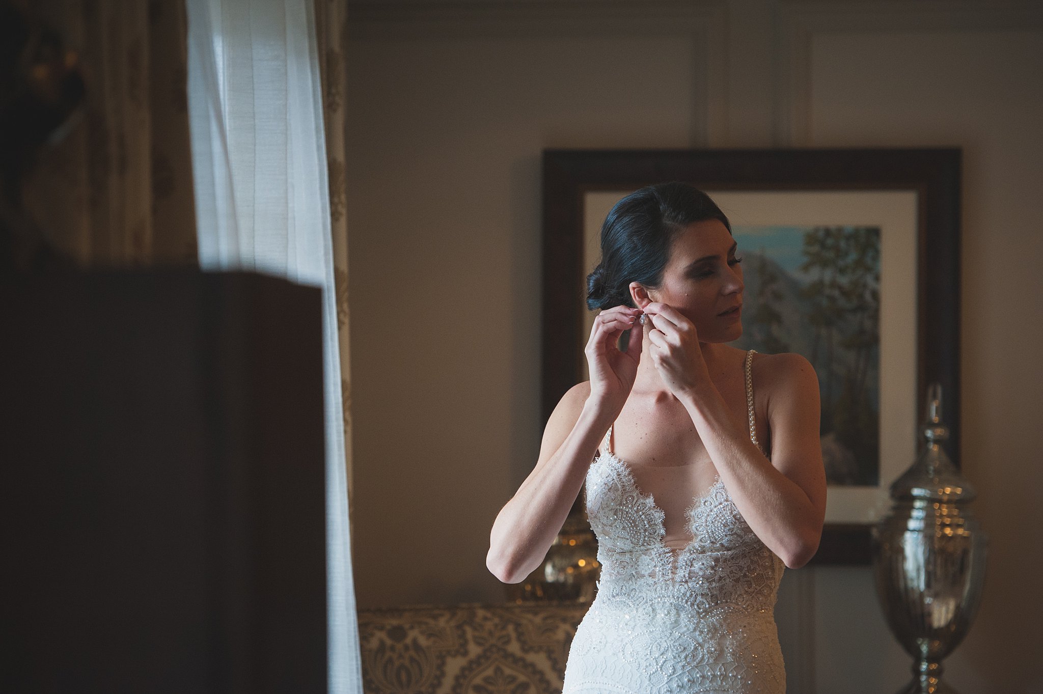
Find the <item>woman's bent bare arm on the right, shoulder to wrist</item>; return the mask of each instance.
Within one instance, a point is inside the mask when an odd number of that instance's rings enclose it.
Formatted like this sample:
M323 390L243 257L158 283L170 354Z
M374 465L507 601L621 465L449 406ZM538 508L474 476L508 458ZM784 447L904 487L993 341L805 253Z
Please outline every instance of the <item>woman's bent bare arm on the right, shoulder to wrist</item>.
M826 513L819 379L800 354L772 354L763 362L761 373L771 372L770 386L765 383L770 393L771 461L750 440L749 424L729 412L711 381L679 399L750 529L796 569L818 550Z

